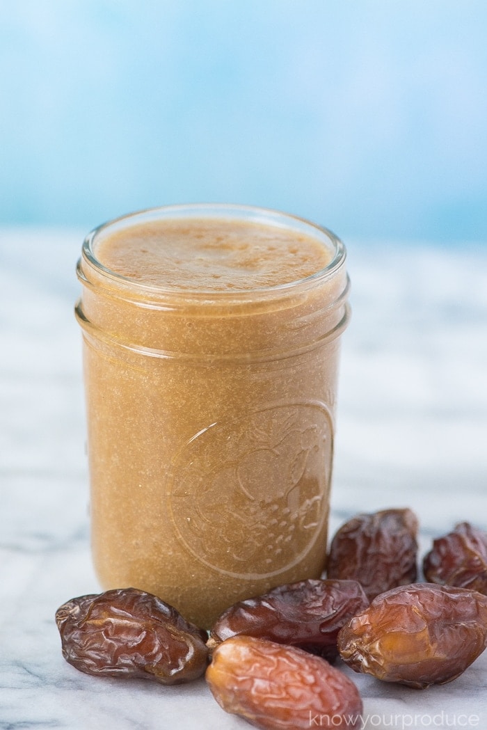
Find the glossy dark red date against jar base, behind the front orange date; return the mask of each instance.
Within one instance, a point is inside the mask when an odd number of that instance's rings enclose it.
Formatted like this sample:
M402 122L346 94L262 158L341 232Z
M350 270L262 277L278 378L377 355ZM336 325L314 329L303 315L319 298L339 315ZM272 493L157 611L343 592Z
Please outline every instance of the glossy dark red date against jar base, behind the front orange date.
M238 634L298 646L334 661L337 634L369 601L356 580L302 580L240 601L217 619L208 648Z

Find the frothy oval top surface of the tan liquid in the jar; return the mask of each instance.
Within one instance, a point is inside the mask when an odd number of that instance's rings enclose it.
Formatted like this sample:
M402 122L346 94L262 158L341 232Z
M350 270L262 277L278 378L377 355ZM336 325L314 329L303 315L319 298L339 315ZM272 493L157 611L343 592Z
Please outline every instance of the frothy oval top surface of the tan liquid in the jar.
M315 238L236 220L165 220L112 234L101 264L134 281L199 291L249 291L293 282L329 264Z

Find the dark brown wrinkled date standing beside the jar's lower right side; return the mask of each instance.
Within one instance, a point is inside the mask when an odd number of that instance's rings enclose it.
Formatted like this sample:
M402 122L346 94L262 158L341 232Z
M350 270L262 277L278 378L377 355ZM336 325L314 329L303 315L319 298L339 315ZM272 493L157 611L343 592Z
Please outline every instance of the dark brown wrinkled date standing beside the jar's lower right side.
M412 510L382 510L348 520L331 540L326 575L358 580L369 601L418 577L418 519Z

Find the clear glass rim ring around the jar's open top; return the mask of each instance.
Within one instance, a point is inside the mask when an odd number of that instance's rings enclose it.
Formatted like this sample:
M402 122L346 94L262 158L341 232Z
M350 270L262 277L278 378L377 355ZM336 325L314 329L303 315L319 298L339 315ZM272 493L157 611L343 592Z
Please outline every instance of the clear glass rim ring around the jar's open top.
M323 243L329 245L331 251L331 260L322 269L313 272L307 277L291 280L272 286L254 287L251 289L241 289L225 291L220 289L204 289L204 288L178 288L174 286L164 286L158 284L146 284L139 280L126 277L124 274L107 268L101 261L96 258L94 250L96 240L109 231L117 231L123 228L131 228L139 223L149 223L154 220L177 219L177 218L207 218L218 220L245 220L253 223L262 223L267 226L275 226L277 228L295 229L301 233L307 233ZM137 210L118 218L108 220L96 226L85 237L83 241L82 258L96 269L97 272L103 274L113 285L119 285L122 288L130 288L134 292L139 292L142 296L171 295L184 296L188 298L215 299L218 301L229 301L238 299L240 301L255 298L256 295L266 296L278 293L285 293L289 290L307 288L307 285L313 286L322 283L331 278L337 269L344 264L346 258L345 245L342 243L329 228L319 226L310 220L301 218L291 213L285 213L271 208L264 208L245 204L227 204L227 203L191 203L191 204L174 204L159 207L146 208Z

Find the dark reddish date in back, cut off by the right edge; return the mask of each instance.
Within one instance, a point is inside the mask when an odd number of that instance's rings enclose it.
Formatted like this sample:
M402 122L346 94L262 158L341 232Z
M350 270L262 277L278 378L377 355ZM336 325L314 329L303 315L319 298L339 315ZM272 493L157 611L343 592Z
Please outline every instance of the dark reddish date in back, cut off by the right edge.
M423 560L426 580L471 588L487 596L487 532L461 522L433 541Z

